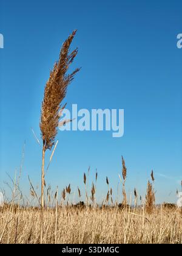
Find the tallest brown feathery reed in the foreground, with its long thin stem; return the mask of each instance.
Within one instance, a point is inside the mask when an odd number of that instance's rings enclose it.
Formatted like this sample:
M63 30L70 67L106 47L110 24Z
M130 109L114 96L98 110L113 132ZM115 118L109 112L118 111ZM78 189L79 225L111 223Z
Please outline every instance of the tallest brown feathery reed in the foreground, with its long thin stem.
M50 72L49 80L45 85L44 99L42 101L41 108L41 137L42 137L42 175L41 175L41 243L43 238L43 211L44 207L44 158L45 151L52 149L55 143L55 137L57 134L57 127L59 123L59 110L61 108L61 102L66 96L67 87L72 82L75 74L79 69L75 69L71 74L67 74L70 64L78 53L76 48L71 53L70 44L73 37L75 37L76 30L64 41L62 44L61 52L59 54L59 60L55 63L53 70Z

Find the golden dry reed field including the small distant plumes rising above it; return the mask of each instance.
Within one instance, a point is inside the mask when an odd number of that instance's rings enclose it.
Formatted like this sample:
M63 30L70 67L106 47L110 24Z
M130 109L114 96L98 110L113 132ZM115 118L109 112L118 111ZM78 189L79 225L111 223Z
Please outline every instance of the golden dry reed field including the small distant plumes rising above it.
M124 159L122 160L123 169L126 170ZM122 191L127 174L126 171L123 173L123 180L120 177ZM33 203L28 201L27 204L19 188L19 179L15 179L15 182L11 179L12 200L4 207L0 207L0 243L182 243L182 208L167 203L156 206L152 183L147 183L146 197L142 201L140 196L139 206L138 193L136 188L134 189L135 203L130 206L126 204L129 202L126 193L123 193L122 204L113 202L113 191L106 177L107 196L105 201L98 205L98 173L96 172L95 183L92 183L90 192L87 191L88 176L84 173L85 203L80 201L78 204L72 204L70 184L62 190L61 199L58 196L58 187L56 191L52 191L48 186L44 208L40 207L39 195L30 178L30 198L33 199ZM81 199L79 188L78 198ZM17 201L19 204L15 204ZM40 213L43 213L43 222Z

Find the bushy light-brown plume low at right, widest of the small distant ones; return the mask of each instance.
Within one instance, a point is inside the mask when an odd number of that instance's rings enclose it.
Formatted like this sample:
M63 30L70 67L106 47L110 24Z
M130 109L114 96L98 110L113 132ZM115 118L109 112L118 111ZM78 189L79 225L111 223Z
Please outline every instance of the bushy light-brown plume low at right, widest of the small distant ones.
M155 206L155 193L153 191L152 183L148 181L147 183L147 194L146 194L146 212L151 214L153 212L153 208Z

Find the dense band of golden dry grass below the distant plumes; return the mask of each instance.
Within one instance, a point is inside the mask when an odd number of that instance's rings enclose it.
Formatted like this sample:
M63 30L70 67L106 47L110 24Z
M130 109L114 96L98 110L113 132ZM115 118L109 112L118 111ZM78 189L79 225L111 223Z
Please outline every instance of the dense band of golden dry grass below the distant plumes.
M12 210L1 209L1 243L39 243L40 210ZM155 208L152 215L144 208L47 208L42 243L55 242L181 244L182 215L180 210L164 207Z

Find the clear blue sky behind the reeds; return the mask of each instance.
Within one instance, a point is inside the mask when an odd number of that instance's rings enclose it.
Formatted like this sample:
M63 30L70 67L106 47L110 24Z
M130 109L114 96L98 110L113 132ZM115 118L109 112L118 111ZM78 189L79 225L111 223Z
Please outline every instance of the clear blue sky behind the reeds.
M116 194L121 155L127 166L127 193L144 195L153 169L157 202L176 201L182 179L182 33L180 0L175 1L5 1L0 0L1 132L0 187L21 163L40 182L39 115L44 85L59 49L74 30L79 47L72 68L81 66L64 102L71 108L124 108L124 136L110 132L58 132L58 147L45 180L59 190L71 183L83 190L98 169L98 197L106 176ZM50 152L47 152L47 161ZM170 195L169 195L170 194Z

